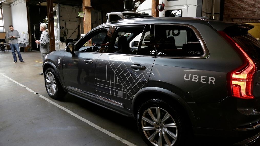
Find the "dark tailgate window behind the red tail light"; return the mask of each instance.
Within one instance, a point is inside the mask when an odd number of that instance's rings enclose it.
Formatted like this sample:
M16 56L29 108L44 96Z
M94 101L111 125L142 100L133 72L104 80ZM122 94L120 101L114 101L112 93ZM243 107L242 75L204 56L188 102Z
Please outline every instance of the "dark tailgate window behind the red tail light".
M249 55L249 57L255 62L257 67L260 67L260 42L251 34L243 34L239 36L233 36L239 46Z

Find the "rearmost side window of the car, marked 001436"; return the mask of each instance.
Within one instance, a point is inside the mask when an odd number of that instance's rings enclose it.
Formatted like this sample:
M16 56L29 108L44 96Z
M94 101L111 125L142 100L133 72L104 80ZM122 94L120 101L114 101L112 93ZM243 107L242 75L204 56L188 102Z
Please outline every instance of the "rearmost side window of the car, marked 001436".
M155 25L156 55L196 57L204 54L192 29L177 25Z

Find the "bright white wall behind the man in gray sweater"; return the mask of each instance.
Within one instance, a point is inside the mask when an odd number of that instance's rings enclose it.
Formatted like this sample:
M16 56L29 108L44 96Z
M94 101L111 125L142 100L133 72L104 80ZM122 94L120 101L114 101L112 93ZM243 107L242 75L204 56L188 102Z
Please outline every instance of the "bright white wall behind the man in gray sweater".
M24 2L24 0L17 0L11 4L11 15L12 24L8 25L13 25L14 30L17 30L20 33L20 36L22 36L21 34L23 32L28 34L28 18L26 3Z

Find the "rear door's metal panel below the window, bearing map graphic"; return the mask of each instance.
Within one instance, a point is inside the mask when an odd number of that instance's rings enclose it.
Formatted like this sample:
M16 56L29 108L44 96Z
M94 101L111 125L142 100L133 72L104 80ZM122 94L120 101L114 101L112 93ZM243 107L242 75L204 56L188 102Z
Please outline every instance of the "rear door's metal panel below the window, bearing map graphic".
M96 95L118 101L123 104L123 108L131 109L135 93L148 85L154 59L155 57L136 55L102 54L96 66ZM132 68L131 65L144 66L145 69ZM97 100L107 104L100 98Z

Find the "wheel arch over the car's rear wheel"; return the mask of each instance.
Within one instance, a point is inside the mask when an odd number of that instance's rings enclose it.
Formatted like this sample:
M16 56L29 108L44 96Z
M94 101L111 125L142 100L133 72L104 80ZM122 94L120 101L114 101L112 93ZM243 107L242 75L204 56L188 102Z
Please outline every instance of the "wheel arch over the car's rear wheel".
M143 96L145 95L145 96ZM147 96L148 95L148 96ZM151 95L151 96L149 96ZM186 114L187 118L190 119L190 122L192 126L196 126L196 118L188 105L188 103L181 98L179 95L163 89L159 87L147 87L139 90L133 97L132 100L132 107L131 114L136 117L139 107L144 101L147 101L149 99L154 99L154 96L160 95L158 99L165 100L166 102L174 102L177 104L180 108L182 108L183 112ZM164 95L164 96L161 96Z

